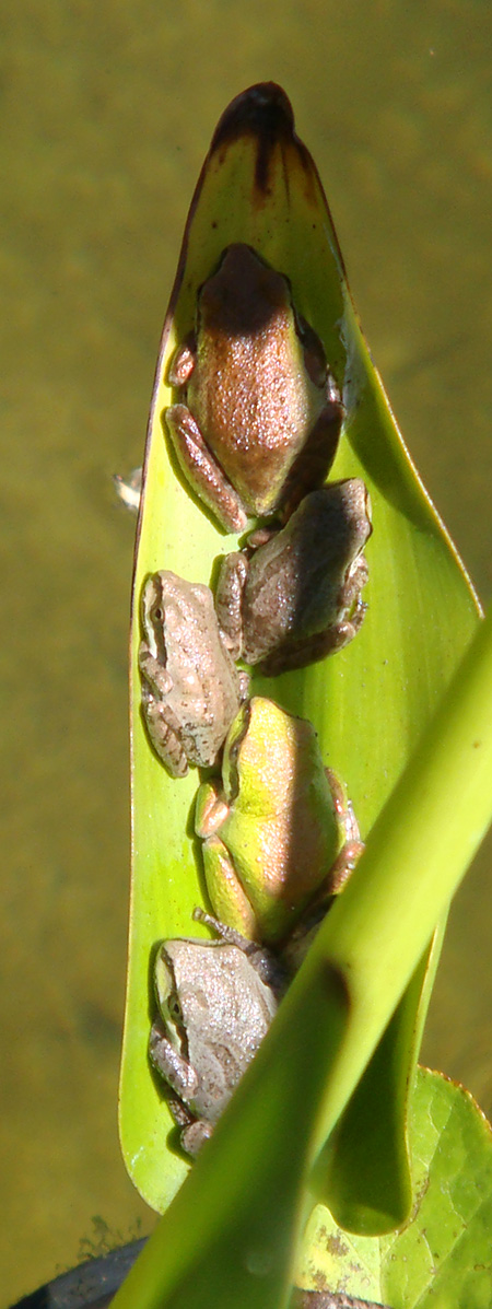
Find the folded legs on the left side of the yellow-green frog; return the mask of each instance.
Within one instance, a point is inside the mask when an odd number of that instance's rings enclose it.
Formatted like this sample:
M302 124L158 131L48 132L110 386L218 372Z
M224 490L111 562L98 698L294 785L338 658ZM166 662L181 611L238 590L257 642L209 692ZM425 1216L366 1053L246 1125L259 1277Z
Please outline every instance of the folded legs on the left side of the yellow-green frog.
M203 867L209 902L217 919L249 940L259 939L256 915L236 873L226 846L216 835L229 806L213 783L203 783L196 797L195 831L203 840Z

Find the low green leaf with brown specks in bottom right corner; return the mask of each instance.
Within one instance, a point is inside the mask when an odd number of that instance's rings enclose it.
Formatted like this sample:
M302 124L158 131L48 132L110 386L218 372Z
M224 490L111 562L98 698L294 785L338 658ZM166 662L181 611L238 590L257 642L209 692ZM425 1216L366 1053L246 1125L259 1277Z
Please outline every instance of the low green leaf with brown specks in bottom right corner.
M419 1069L410 1103L415 1210L400 1232L348 1236L309 1220L296 1280L393 1309L487 1309L492 1300L492 1131L470 1092Z

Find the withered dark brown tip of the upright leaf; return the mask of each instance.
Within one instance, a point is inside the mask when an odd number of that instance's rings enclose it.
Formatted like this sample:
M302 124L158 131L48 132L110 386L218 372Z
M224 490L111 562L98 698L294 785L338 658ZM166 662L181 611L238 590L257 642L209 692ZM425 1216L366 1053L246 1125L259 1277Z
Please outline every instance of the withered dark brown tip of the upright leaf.
M290 101L276 82L256 82L230 101L215 130L211 154L241 136L254 136L258 141L255 182L260 191L266 191L275 147L296 139Z

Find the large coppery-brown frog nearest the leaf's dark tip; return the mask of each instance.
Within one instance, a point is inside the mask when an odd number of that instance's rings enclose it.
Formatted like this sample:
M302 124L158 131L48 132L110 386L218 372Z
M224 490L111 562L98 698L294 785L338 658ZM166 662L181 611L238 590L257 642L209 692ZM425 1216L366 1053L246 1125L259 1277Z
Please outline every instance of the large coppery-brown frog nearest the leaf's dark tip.
M251 246L229 245L198 292L195 330L171 357L164 410L181 469L228 533L321 486L344 416L322 342L290 283Z

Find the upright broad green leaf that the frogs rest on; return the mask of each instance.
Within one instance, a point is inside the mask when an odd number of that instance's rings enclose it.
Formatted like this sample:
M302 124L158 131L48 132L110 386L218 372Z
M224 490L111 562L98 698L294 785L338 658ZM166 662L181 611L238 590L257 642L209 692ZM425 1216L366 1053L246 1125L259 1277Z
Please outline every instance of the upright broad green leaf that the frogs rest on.
M344 394L347 421L332 476L361 475L372 495L374 533L366 551L370 581L365 597L369 613L360 635L331 660L253 682L254 691L272 695L314 723L326 762L348 784L364 836L438 704L478 620L476 601L411 465L361 336L325 195L308 151L293 134L288 101L279 88L253 88L221 119L191 206L157 367L137 529L132 897L120 1136L128 1172L157 1210L173 1198L188 1165L175 1151L175 1136L169 1139L169 1111L147 1060L149 959L162 937L190 935L191 912L203 901L203 889L192 840L198 775L191 771L177 781L167 778L149 747L139 713L139 597L145 575L156 568L171 568L190 580L208 583L217 556L236 547L236 538L224 538L177 475L162 424L162 410L171 399L166 386L170 355L194 325L199 285L232 241L249 242L289 276L296 306L322 338ZM425 965L419 967L429 975ZM411 1080L419 1026L413 984L389 1038L393 1054L385 1058L381 1072L386 1086L379 1079L382 1109L394 1093L395 1075L400 1086L394 1130L381 1132L386 1161L381 1160L379 1168L391 1177L382 1219L386 1225L391 1215L402 1216L408 1207L404 1143L402 1149L404 1088ZM344 1169L342 1145L339 1178ZM349 1183L349 1160L347 1175ZM369 1198L365 1210L365 1221L370 1221Z

